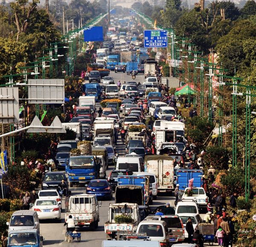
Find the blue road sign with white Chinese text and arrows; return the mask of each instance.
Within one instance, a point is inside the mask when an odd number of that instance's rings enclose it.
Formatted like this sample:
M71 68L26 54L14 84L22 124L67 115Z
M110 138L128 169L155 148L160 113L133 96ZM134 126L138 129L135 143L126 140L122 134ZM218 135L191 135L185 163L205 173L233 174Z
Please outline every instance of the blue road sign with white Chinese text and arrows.
M144 30L144 47L167 47L166 30Z

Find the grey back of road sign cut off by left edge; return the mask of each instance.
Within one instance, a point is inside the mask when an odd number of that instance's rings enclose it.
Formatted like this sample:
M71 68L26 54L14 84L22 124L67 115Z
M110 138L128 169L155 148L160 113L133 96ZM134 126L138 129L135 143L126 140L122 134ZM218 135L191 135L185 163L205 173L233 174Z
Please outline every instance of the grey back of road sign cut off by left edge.
M0 88L0 123L19 122L19 88Z

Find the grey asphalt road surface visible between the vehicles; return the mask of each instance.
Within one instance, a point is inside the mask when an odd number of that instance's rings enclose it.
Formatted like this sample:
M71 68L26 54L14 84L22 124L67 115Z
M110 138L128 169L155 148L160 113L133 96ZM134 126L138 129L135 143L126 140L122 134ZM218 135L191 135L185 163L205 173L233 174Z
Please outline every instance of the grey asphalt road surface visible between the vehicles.
M126 75L125 73L114 73L111 72L111 76L113 76L115 83L118 80L123 83L124 81L134 81L131 79L131 76ZM144 81L144 75L138 75L136 77L136 81L142 83ZM96 104L96 108L99 109L99 103ZM125 146L122 145L121 140L119 139L116 150L120 156L124 155ZM113 169L113 166L110 166L107 171L107 176L110 173L110 170ZM73 187L72 194L80 194L85 192L85 187ZM165 204L169 202L172 206L174 206L174 197L170 196L158 196L157 200L154 200L153 205L151 205L151 209L154 210L155 207L161 204ZM112 199L113 202L113 199ZM64 203L64 201L62 202ZM40 233L44 236L44 246L69 246L69 247L100 247L102 245L102 240L105 240L105 232L104 232L104 223L108 220L108 205L110 201L103 201L102 207L100 207L100 222L99 228L95 231L90 230L87 227L77 229L81 232L81 242L77 243L76 241L71 241L68 243L64 241L64 233L66 227L63 227L64 224L64 213L61 213L62 221L61 223L55 223L54 221L41 221L40 222Z

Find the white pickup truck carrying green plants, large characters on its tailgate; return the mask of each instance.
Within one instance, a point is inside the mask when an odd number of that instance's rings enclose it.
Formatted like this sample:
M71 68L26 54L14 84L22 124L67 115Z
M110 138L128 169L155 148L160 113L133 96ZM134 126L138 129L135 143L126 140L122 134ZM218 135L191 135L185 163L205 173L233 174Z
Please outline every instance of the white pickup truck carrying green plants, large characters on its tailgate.
M117 223L118 216L130 216L129 222ZM139 206L136 203L114 203L109 204L108 221L104 224L104 230L108 239L117 237L117 233L132 233L136 232L140 223Z

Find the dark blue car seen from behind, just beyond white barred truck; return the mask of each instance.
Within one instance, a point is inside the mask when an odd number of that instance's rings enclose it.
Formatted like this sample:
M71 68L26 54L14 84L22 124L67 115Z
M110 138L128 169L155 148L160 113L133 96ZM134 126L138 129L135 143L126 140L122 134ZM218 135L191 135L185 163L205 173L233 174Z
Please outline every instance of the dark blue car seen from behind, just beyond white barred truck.
M91 180L85 193L89 195L96 195L97 198L107 198L109 200L111 200L113 196L112 187L106 179Z

